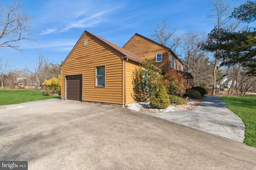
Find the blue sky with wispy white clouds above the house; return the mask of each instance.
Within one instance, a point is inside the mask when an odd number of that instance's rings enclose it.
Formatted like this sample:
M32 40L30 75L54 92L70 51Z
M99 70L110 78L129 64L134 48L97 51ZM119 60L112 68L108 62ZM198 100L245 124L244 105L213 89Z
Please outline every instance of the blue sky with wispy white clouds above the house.
M8 0L7 0L8 2ZM135 33L152 34L156 23L166 20L186 30L209 33L214 25L208 0L23 0L34 18L33 41L22 41L23 51L0 49L0 58L10 60L9 70L32 70L39 53L48 61L64 61L84 30L122 47ZM235 1L238 2L238 1ZM242 4L245 0L240 0Z

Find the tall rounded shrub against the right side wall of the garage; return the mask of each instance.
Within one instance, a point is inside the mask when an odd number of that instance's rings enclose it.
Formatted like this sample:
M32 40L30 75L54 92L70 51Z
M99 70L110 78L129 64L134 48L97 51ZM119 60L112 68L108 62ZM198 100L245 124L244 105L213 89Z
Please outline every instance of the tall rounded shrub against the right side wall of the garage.
M155 96L161 76L156 66L148 61L143 61L141 67L136 68L132 78L133 94L136 101L146 101Z

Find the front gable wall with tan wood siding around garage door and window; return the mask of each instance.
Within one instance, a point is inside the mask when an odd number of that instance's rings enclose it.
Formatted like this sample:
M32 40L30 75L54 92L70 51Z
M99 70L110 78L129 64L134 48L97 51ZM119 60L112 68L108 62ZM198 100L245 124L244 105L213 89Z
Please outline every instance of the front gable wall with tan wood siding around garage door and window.
M84 40L87 39L87 46ZM65 76L83 74L82 100L124 104L122 93L122 59L116 51L85 34L62 66L62 95ZM106 65L106 86L95 87L95 67Z

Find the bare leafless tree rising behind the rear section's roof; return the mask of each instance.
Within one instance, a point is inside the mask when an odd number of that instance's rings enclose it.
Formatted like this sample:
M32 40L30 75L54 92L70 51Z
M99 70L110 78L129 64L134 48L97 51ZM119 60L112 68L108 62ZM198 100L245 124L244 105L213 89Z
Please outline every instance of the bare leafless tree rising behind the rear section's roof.
M166 20L157 22L156 27L157 28L154 29L154 33L152 33L150 37L161 45L175 51L178 45L181 43L181 37L174 37L174 33L177 31L177 28L170 29L170 25L168 22L166 22Z

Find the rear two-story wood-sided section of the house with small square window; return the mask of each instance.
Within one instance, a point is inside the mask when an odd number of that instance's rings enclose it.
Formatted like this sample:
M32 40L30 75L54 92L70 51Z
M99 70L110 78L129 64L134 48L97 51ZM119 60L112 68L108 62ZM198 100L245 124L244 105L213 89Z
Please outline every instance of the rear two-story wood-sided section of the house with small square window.
M188 84L193 86L194 77L190 73L183 71L184 64L168 47L136 33L123 48L143 60L152 62L158 68L162 68L163 73L169 73L170 70L178 70L186 78Z

